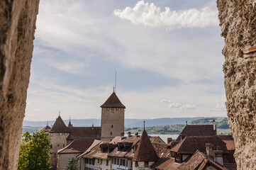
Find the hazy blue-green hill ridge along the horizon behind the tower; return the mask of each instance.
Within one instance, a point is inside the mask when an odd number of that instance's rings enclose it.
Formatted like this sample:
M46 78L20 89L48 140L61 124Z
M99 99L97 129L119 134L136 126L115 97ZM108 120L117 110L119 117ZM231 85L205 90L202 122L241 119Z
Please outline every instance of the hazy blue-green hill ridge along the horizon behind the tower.
M178 124L185 124L186 121L189 123L193 120L199 120L209 117L196 117L196 118L156 118L156 119L145 119L145 127L152 127L152 126L160 126L160 125L178 125ZM214 117L215 119L223 119L225 117ZM212 119L212 118L211 118ZM144 119L126 119L125 120L125 127L126 128L134 128L134 127L143 127L143 120ZM65 124L68 125L69 120L64 120ZM50 120L48 125L52 126L55 123L55 120ZM100 119L72 119L71 123L74 126L100 126L101 120ZM47 121L23 121L23 126L32 126L32 127L45 127Z

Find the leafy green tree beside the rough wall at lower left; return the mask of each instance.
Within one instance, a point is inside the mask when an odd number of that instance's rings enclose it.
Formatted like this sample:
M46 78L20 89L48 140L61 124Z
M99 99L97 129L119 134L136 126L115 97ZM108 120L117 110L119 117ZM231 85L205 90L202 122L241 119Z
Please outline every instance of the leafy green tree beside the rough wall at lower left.
M25 132L21 139L21 148L18 155L18 170L48 170L50 157L50 138L45 132Z

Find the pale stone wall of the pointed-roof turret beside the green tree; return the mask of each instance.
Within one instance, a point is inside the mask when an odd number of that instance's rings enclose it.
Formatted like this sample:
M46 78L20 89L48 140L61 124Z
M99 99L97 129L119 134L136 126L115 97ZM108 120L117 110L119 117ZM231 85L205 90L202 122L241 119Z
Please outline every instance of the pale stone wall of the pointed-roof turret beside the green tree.
M50 137L50 143L52 145L52 148L50 149L52 155L50 156L49 162L53 169L57 169L57 151L63 147L67 147L68 136L69 133L67 132L62 132L62 135L60 135L59 132L48 134L48 137Z

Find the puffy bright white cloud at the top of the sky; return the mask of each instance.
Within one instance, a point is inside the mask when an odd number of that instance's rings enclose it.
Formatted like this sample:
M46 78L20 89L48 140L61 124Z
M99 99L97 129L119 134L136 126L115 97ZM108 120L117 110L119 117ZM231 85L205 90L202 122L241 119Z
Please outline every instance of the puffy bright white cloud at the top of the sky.
M133 24L143 24L152 27L199 27L218 26L218 11L211 10L208 7L196 9L190 8L184 11L171 11L165 7L165 11L153 3L145 3L144 0L138 1L137 4L130 8L127 6L123 9L113 11L115 16L131 21Z

